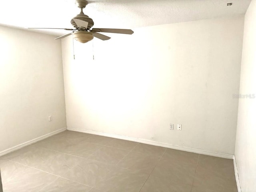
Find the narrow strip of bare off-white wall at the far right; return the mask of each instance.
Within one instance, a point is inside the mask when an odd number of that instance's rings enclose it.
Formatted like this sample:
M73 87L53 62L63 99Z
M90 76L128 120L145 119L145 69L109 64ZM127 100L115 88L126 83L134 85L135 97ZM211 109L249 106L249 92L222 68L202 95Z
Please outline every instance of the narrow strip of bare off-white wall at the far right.
M240 94L256 96L256 0L244 22ZM239 100L236 132L236 163L242 192L256 191L256 98Z

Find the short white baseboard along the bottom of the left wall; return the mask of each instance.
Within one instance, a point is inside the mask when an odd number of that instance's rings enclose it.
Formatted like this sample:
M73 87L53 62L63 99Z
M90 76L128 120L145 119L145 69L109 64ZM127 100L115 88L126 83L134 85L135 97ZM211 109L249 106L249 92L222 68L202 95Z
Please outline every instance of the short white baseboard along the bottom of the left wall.
M0 151L0 156L3 156L3 155L8 154L8 153L10 153L10 152L16 151L16 150L18 150L18 149L20 149L20 148L23 148L23 147L25 147L25 146L28 146L28 145L33 144L33 143L35 143L35 142L38 142L38 141L40 141L40 140L46 139L46 138L48 138L48 137L50 137L50 136L56 135L56 134L58 134L58 133L60 133L60 132L63 132L63 131L65 131L65 130L67 130L66 127L65 127L65 128L61 128L61 129L59 129L59 130L56 130L56 131L54 131L54 132L45 134L45 135L40 136L40 137L38 137L38 138L32 139L32 140L30 140L30 141L24 142L24 143L22 143L22 144L18 144L18 145L16 145L16 146L12 147L12 148L8 148L8 149L6 149L6 150Z

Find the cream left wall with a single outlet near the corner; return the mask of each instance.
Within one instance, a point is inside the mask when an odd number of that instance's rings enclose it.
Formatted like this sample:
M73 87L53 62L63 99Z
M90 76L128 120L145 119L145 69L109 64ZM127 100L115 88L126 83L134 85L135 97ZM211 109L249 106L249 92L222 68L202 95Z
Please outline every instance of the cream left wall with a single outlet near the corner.
M61 42L0 26L0 152L65 127Z

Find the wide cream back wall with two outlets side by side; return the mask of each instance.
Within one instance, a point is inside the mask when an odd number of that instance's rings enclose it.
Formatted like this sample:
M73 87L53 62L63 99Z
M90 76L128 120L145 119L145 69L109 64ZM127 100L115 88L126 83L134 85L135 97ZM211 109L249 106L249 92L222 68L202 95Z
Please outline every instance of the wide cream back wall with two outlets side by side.
M67 126L234 154L243 26L241 16L108 34L75 42L76 60L64 38Z

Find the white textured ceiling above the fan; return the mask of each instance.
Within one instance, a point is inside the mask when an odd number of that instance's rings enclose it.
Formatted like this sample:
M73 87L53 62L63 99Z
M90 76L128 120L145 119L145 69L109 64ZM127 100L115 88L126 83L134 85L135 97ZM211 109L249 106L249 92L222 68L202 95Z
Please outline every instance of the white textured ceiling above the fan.
M88 0L95 28L136 28L245 14L251 0ZM227 3L232 2L232 6ZM0 0L0 25L72 28L74 0ZM40 30L62 35L64 30Z

